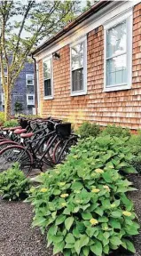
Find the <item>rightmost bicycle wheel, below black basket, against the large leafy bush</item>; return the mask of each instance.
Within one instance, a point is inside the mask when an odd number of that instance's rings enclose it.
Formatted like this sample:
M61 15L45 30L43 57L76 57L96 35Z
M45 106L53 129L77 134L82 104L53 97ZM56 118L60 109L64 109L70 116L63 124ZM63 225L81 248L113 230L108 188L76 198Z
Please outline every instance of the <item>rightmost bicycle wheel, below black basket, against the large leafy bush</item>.
M76 143L77 143L76 137L72 137L67 140L59 140L59 142L56 144L53 151L53 156L52 156L53 163L59 164L62 161L64 161L70 152L70 148L76 145Z

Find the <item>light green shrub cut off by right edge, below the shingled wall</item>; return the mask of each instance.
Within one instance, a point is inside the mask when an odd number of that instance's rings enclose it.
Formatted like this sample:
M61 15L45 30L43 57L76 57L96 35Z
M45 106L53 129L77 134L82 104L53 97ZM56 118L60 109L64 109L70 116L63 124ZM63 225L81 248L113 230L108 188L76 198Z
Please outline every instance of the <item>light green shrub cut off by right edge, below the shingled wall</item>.
M141 132L130 137L129 148L130 152L135 156L131 164L133 164L137 172L141 173Z

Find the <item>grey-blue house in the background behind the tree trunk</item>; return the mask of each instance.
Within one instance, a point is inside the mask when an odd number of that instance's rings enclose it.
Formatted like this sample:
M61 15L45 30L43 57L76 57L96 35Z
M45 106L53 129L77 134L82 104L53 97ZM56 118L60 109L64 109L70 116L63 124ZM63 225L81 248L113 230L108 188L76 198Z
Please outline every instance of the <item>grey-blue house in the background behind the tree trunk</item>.
M27 115L33 114L33 108L35 107L34 85L34 64L26 62L12 89L12 115L16 114L16 102L21 103L22 111L20 111L20 113ZM0 83L0 96L0 111L4 111L2 82Z

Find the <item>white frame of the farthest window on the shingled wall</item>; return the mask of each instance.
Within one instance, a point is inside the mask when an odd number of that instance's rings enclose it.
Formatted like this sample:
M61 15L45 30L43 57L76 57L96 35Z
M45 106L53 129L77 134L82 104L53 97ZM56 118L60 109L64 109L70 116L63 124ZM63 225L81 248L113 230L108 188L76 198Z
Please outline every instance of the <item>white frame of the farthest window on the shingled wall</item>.
M43 74L43 100L52 100L54 98L53 94L53 61L52 61L52 55L46 57L43 59L43 63L47 60L51 60L51 95L50 96L44 96L44 74Z

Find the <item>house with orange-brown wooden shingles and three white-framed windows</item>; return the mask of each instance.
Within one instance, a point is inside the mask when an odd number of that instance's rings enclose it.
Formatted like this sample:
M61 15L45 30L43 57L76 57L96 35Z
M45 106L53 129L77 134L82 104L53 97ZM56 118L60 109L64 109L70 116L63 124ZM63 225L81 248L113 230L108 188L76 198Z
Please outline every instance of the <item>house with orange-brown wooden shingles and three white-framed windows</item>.
M43 117L141 128L141 1L99 1L32 54Z

